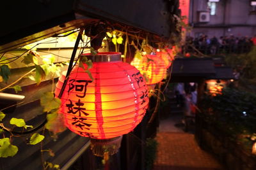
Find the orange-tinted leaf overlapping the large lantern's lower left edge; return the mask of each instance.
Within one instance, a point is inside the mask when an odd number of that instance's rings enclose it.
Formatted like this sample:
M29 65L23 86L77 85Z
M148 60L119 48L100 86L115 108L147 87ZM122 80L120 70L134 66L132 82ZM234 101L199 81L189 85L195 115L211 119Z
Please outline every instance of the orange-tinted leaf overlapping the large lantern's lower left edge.
M61 113L57 113L57 111L48 114L45 128L54 134L65 131L67 127L64 124L63 115Z

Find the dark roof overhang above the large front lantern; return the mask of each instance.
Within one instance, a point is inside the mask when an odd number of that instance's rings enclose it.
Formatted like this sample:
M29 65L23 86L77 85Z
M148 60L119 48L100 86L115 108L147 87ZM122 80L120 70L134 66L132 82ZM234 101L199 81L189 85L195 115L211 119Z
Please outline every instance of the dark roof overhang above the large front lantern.
M0 53L99 20L168 38L179 4L154 0L3 1L0 10Z

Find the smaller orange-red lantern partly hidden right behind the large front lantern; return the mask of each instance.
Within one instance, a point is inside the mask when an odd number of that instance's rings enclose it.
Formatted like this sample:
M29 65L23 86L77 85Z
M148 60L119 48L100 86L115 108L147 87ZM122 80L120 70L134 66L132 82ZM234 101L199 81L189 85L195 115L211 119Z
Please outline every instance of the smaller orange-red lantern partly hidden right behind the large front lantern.
M146 76L147 85L159 83L166 74L164 60L157 55L142 55L141 59L134 57L131 65Z

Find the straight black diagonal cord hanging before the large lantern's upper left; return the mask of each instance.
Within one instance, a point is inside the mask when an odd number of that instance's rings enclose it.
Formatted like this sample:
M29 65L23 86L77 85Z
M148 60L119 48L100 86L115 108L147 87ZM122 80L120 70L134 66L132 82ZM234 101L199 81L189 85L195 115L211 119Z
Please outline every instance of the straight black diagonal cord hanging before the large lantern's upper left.
M80 31L79 31L79 34L77 36L77 39L76 39L76 44L74 46L74 49L73 49L73 52L72 52L72 55L71 55L71 58L70 58L70 62L69 62L69 65L68 65L68 70L67 70L67 74L66 74L66 78L63 82L63 85L61 87L61 90L60 90L60 94L58 96L58 98L61 98L61 96L63 95L63 92L65 90L65 87L67 85L67 81L68 81L68 76L70 75L71 71L72 71L72 64L75 60L75 57L76 57L76 51L77 51L77 48L78 48L78 45L79 45L79 41L82 39L82 34L83 34L83 31L84 29L81 28Z

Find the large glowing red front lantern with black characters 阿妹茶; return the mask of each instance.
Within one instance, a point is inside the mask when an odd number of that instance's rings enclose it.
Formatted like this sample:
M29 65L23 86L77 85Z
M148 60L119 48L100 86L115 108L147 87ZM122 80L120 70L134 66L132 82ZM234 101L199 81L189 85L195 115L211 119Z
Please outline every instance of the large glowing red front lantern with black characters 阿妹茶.
M121 61L120 53L85 53L81 57L93 61L89 69L93 80L86 73L86 64L84 68L75 66L61 96L60 113L70 131L91 138L92 148L99 142L104 150L103 145L111 143L110 154L113 154L120 146L122 135L140 124L146 113L147 85L136 67ZM62 74L56 84L56 96L64 80L65 74ZM115 142L119 144L113 145ZM104 151L95 155L103 156Z

